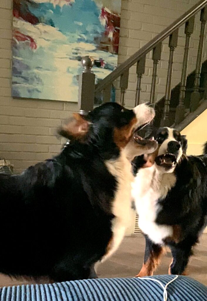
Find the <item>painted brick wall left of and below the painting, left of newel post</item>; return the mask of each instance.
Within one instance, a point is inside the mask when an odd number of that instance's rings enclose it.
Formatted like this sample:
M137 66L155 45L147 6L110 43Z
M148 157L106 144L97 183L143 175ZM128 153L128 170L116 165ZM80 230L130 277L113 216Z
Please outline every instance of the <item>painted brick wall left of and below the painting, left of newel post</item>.
M11 98L11 4L0 1L0 157L21 172L60 151L56 129L77 104Z

